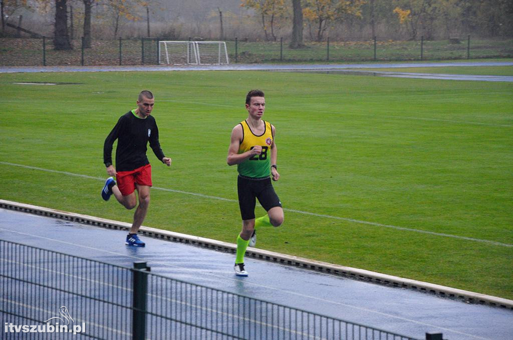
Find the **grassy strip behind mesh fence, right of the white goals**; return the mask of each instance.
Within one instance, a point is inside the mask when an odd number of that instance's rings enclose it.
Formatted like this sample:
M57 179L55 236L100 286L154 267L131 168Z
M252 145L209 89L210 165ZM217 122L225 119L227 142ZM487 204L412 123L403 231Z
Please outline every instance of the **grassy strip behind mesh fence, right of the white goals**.
M239 62L294 62L294 61L371 61L371 60L448 60L470 58L510 58L513 56L513 39L471 38L450 44L448 40L396 41L378 40L376 58L374 41L330 41L329 54L326 41L307 42L304 48L289 49L284 41L239 41ZM230 60L235 59L235 42L227 41ZM469 52L469 53L468 53Z

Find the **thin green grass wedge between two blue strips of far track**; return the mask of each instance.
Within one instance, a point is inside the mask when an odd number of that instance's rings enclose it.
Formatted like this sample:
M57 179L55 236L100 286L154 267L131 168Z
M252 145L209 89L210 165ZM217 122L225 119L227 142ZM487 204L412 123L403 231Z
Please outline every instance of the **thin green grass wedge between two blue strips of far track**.
M401 67L401 68L369 68L358 69L384 72L411 72L411 73L444 73L444 74L472 74L513 76L513 66L458 66L458 67Z

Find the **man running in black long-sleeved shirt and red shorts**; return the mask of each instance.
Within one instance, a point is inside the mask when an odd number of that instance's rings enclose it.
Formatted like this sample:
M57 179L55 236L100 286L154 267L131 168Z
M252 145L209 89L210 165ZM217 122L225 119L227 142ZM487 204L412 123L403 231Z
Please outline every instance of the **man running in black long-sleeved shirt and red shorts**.
M107 178L102 190L102 198L108 201L114 197L125 208L133 209L137 205L134 190L139 194L139 206L135 209L130 233L126 244L144 247L145 243L137 237L137 231L143 224L150 203L151 165L146 157L148 141L155 156L167 166L171 158L165 157L159 142L159 129L155 118L150 116L155 100L150 91L142 91L137 98L137 109L127 112L117 121L114 129L105 139L103 161L107 174L116 176ZM116 168L112 165L112 145L117 139Z

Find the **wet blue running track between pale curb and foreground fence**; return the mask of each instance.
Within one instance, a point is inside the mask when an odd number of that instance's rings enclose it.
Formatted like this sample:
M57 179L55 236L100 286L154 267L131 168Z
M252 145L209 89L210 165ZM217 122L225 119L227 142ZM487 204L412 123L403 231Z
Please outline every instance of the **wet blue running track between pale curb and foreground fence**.
M233 272L231 253L148 237L143 237L146 247L128 247L125 236L121 230L0 208L3 240L127 267L146 261L153 273L173 279L420 339L428 331L441 332L448 340L513 339L510 309L467 304L251 258L246 259L249 277L239 278Z

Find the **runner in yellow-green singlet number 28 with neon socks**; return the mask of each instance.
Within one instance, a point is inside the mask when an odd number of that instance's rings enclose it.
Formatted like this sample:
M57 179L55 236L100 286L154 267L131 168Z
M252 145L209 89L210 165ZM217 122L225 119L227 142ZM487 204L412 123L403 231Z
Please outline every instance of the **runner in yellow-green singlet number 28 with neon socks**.
M239 276L247 276L244 268L246 248L257 242L256 228L278 227L283 223L283 208L274 192L271 179L278 181L280 174L276 165L278 150L274 137L276 129L262 120L265 111L264 92L251 90L246 95L248 118L235 125L228 148L228 165L237 164L239 177L237 190L242 216L242 230L237 237L237 254L234 270ZM255 219L256 199L267 211L267 215Z

